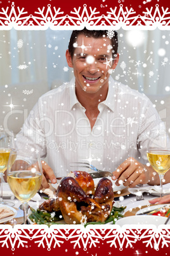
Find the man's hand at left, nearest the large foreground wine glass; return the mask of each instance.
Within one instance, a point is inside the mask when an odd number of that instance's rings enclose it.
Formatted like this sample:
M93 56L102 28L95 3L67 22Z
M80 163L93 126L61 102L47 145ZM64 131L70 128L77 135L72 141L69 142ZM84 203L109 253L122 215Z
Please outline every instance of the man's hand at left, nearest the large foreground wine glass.
M41 161L42 163L42 183L41 183L41 188L49 188L49 184L47 179L51 180L51 183L55 184L56 183L56 178L53 170L51 167L48 166L46 162L43 160Z

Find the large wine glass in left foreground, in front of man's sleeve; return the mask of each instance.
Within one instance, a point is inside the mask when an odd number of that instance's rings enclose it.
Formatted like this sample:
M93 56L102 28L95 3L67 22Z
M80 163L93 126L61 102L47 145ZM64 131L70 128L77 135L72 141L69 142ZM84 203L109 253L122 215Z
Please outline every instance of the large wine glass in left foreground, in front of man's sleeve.
M42 166L38 153L16 150L10 153L7 168L10 188L23 205L23 224L27 222L27 206L41 187Z

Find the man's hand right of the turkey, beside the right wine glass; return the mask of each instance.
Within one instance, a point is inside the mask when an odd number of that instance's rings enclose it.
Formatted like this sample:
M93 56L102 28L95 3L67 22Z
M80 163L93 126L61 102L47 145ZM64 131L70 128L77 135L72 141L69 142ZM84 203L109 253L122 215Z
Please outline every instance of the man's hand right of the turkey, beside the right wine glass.
M123 184L126 187L135 187L138 184L149 183L153 180L152 176L153 172L147 166L129 157L113 172L112 180L116 180L117 186Z

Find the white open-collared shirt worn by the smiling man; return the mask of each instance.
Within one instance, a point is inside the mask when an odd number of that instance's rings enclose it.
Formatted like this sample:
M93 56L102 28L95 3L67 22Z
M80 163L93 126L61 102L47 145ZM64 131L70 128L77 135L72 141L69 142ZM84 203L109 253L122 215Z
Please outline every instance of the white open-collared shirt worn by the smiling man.
M39 152L42 159L47 155L56 176L82 169L70 168L71 162L90 162L108 171L128 157L146 163L147 132L160 122L150 100L110 77L107 99L98 110L91 131L73 78L40 97L16 136L16 147Z

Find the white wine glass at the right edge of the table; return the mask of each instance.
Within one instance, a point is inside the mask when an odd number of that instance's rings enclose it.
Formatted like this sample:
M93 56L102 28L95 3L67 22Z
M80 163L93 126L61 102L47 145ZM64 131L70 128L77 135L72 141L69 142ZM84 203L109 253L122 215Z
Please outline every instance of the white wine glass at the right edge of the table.
M160 197L162 197L162 181L164 174L170 169L170 148L164 129L153 129L148 132L147 158L150 165L159 174Z

